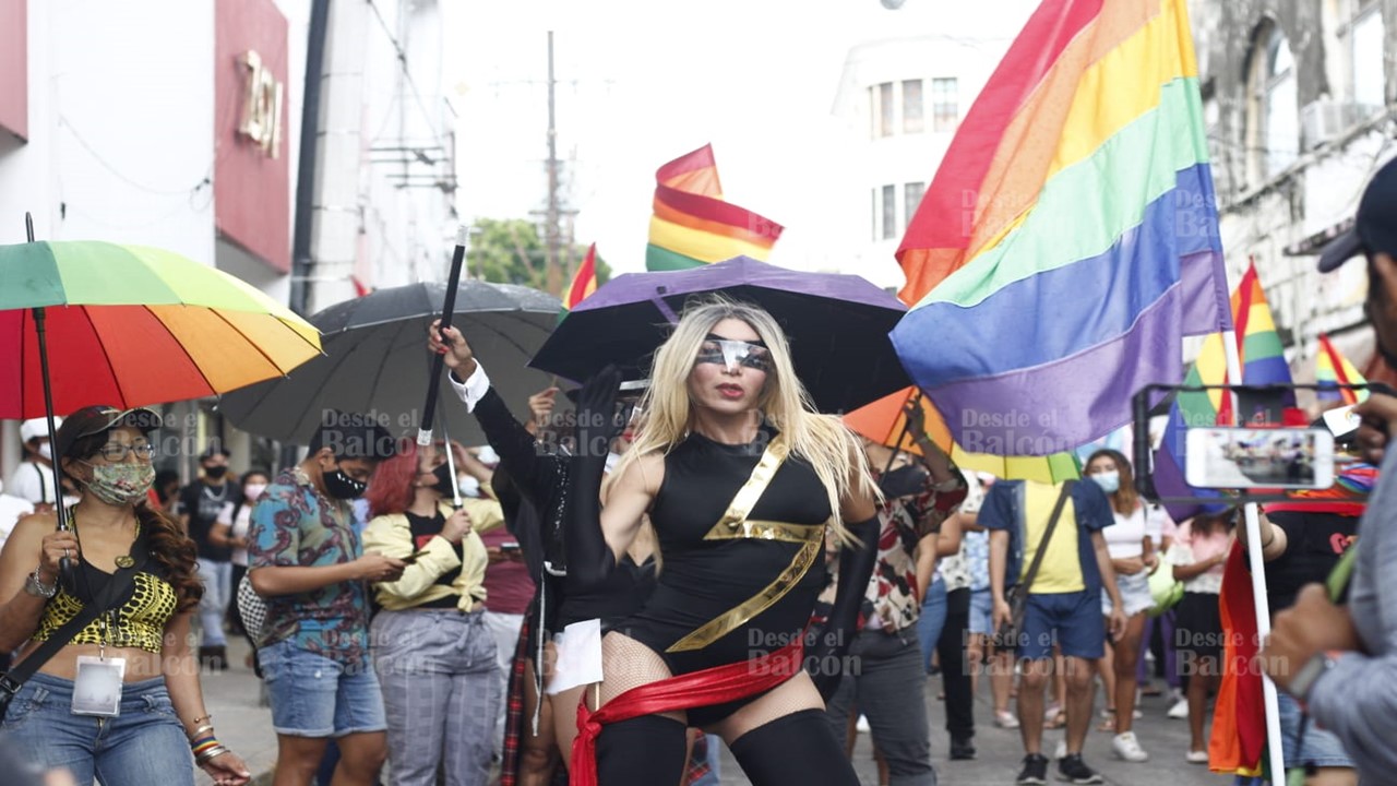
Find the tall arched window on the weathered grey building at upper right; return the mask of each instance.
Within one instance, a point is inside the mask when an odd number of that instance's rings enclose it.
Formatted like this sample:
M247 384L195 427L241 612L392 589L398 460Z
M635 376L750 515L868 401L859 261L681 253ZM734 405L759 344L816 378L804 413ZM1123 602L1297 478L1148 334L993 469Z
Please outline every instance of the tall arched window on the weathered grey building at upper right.
M1299 155L1299 92L1295 59L1280 25L1267 22L1255 42L1246 140L1253 180L1260 182L1284 172Z

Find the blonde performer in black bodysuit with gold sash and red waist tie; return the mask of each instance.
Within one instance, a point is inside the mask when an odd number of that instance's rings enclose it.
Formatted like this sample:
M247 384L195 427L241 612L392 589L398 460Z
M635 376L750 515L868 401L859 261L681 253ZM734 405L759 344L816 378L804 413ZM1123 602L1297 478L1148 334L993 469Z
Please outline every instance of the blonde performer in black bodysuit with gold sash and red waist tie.
M472 366L468 354L457 354L461 343L450 333L448 340L448 365ZM817 684L831 689L838 678L842 650L834 642L854 627L873 568L876 490L858 441L837 418L810 410L768 313L714 299L686 309L657 351L636 443L612 471L602 508L617 385L609 369L580 396L566 509L569 579L583 587L605 582L647 513L664 569L644 607L604 639L601 709L595 719L584 713L573 778L590 782L583 768L595 745L599 783L678 782L685 726L693 724L721 734L759 786L856 783L823 719ZM814 659L816 681L799 663L792 670L789 660L768 657L789 659L795 649L787 645L802 638L824 582L827 527L854 534L861 548L845 550L834 642L821 641L812 653L830 656ZM778 670L760 671L773 666ZM705 681L718 673L726 681L715 689ZM672 688L669 677L690 678ZM637 701L665 691L662 699ZM588 705L594 698L590 691ZM631 712L620 717L612 702Z

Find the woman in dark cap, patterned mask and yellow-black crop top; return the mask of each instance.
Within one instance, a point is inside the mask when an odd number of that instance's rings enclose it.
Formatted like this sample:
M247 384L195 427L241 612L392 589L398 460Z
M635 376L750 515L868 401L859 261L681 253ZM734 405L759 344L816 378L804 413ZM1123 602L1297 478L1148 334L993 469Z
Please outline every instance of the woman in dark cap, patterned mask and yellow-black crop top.
M242 785L251 775L218 743L187 643L203 592L194 544L145 503L159 425L151 410L87 407L57 431L82 496L66 529L27 516L0 552L0 649L22 645L6 676L18 691L0 691L4 733L78 783L193 786L197 764Z

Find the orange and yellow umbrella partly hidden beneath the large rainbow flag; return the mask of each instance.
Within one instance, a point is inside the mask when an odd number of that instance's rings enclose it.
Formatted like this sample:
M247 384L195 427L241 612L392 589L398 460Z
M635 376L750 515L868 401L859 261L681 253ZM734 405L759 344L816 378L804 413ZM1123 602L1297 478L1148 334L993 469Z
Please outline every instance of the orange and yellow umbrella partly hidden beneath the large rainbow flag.
M1081 477L1077 460L1071 453L1049 456L995 456L971 453L951 438L946 418L930 399L916 387L904 387L844 415L844 424L855 432L898 450L921 455L907 431L907 404L916 401L922 407L926 436L951 457L957 467L970 471L989 473L1004 480L1034 480L1039 483L1060 483Z

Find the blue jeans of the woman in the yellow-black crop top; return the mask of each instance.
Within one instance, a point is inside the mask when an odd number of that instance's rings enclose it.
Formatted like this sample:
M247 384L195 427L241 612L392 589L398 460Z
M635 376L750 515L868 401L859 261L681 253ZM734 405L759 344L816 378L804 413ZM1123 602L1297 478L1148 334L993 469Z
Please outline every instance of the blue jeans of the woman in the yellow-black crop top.
M71 703L71 680L35 674L10 702L0 733L43 768L67 768L81 786L94 776L102 786L194 783L194 758L163 677L127 683L116 717L73 715Z

